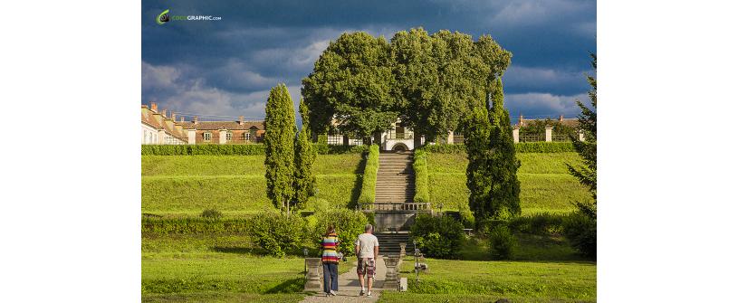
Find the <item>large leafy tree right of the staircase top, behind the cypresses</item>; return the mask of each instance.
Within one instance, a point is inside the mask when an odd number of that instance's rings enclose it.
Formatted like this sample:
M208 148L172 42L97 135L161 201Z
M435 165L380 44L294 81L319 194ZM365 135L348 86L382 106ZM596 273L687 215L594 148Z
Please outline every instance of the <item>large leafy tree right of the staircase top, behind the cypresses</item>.
M396 33L390 49L400 118L428 141L459 128L483 106L511 57L489 35L474 42L465 33L428 35L422 28Z

